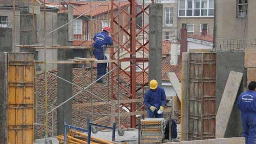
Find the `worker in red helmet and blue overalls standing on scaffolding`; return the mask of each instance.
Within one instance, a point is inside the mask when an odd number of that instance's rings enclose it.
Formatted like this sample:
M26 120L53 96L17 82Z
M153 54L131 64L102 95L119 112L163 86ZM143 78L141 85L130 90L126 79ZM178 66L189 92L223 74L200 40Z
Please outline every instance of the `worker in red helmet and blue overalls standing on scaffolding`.
M94 40L94 50L93 55L98 60L107 60L107 57L105 56L105 51L107 48L107 45L113 45L113 39L109 36L110 28L104 27L102 32L96 33L93 40ZM106 74L106 68L107 63L97 63L97 79L102 77L104 74ZM103 80L99 79L97 81L98 83L102 83Z

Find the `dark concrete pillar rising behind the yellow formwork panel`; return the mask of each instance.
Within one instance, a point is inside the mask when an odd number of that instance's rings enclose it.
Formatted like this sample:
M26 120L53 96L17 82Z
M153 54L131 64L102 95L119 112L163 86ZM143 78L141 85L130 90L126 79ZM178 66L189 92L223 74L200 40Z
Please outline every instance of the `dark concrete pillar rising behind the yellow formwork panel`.
M28 14L28 10L21 10L20 14ZM36 23L36 15L34 17L34 25ZM20 15L20 29L21 30L32 30L33 29L33 16L32 15ZM19 44L20 45L33 45L35 44L36 40L36 33L34 31L19 31L20 38L19 38ZM33 34L34 32L34 34ZM18 33L16 31L16 33ZM24 52L33 52L35 53L36 49L34 48L20 48L20 51ZM34 55L35 56L35 55Z

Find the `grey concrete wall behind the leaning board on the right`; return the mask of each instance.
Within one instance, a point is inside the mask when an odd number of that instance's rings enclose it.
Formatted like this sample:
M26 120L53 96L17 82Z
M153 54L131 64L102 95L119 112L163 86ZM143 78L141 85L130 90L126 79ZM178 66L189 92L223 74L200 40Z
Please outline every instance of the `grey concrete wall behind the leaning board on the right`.
M225 89L227 78L230 71L243 72L243 80L239 88L238 96L246 87L247 70L244 68L243 52L217 52L217 68L216 68L216 112L221 102L221 97ZM225 137L239 137L242 133L240 111L236 108L236 102L232 109L230 119L227 125Z

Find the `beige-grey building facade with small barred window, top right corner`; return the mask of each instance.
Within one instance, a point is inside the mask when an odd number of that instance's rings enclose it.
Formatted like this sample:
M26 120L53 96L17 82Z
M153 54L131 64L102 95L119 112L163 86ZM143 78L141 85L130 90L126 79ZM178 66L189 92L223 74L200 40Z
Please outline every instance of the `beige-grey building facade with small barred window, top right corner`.
M255 48L256 1L215 0L215 5L214 48L216 50Z

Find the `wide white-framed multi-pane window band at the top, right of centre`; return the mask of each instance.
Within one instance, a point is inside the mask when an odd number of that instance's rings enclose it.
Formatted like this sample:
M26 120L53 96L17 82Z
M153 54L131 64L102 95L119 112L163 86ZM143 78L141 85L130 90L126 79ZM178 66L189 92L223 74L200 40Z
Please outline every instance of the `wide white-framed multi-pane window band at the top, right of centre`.
M214 0L179 0L180 17L214 16Z

